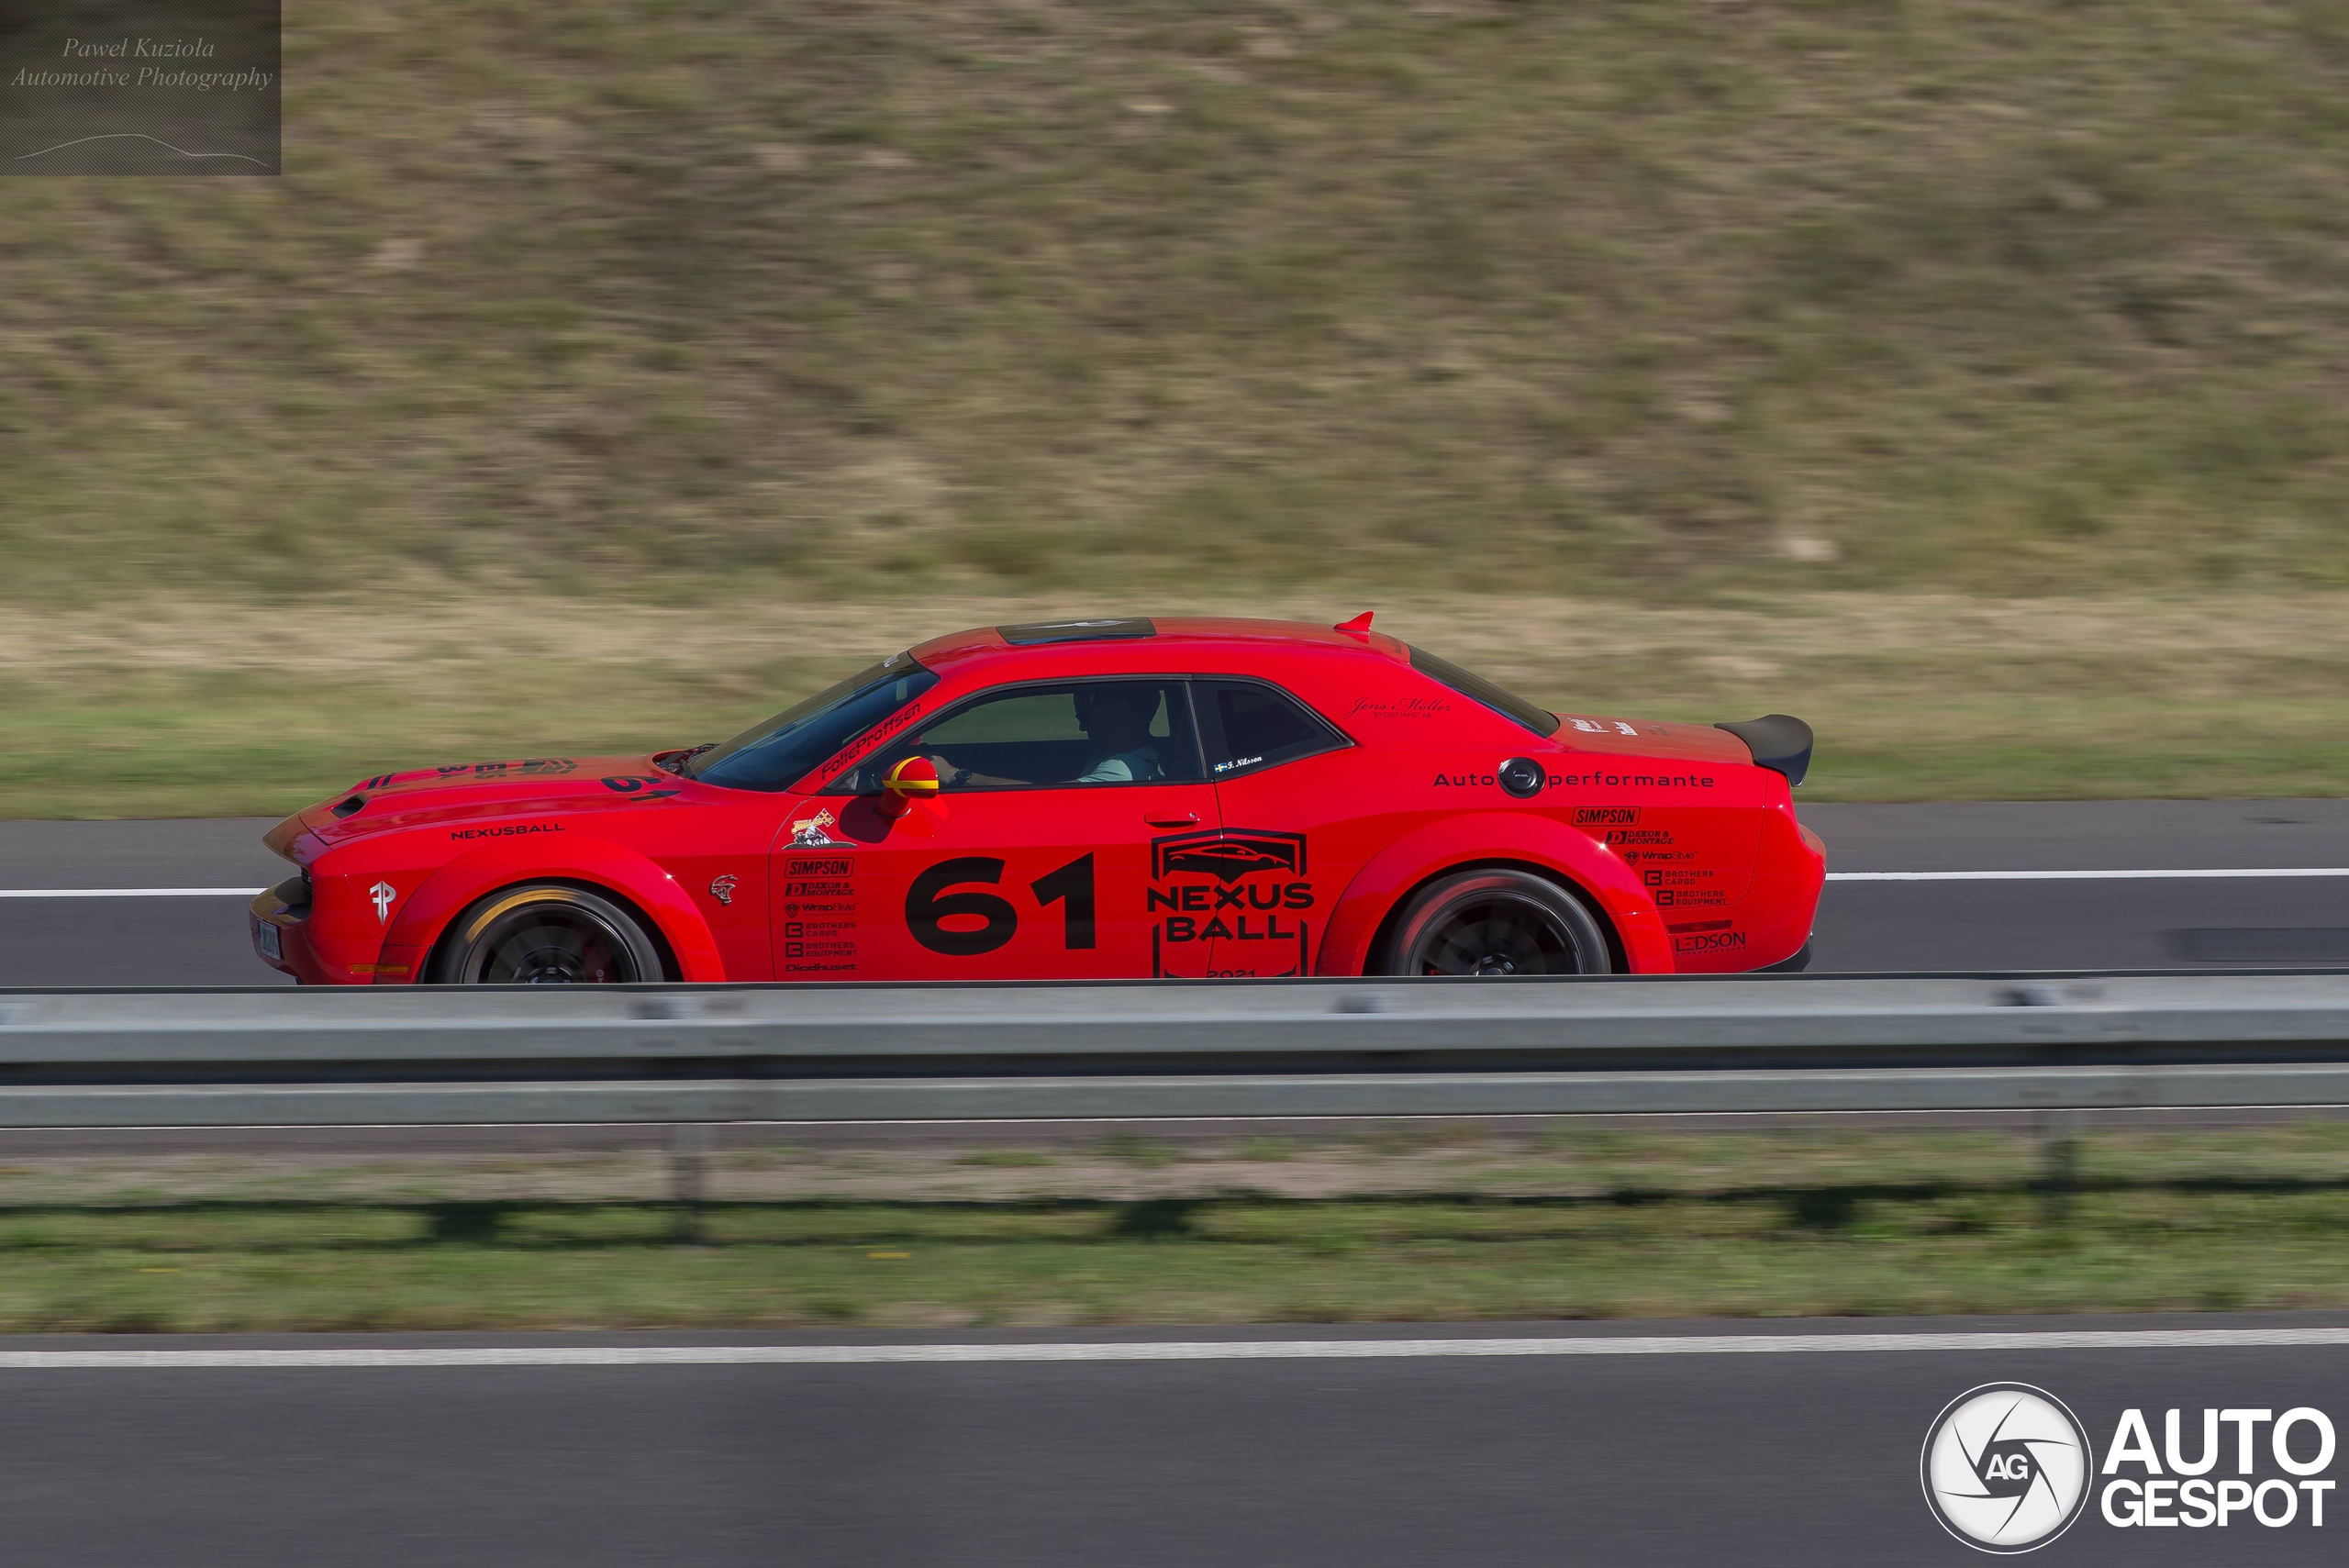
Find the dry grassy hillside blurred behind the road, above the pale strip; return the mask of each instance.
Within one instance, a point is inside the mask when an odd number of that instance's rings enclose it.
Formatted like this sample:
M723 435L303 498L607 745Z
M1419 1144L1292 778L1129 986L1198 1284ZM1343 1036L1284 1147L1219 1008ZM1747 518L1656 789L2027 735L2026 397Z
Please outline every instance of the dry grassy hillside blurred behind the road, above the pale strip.
M0 599L2349 582L2333 0L303 0L0 181Z

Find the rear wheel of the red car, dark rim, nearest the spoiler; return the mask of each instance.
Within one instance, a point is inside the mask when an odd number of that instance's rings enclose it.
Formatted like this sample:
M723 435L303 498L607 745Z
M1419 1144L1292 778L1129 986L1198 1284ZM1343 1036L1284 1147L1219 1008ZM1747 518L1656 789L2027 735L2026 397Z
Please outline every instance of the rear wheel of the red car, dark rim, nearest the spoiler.
M1459 871L1412 894L1379 974L1609 974L1607 932L1532 871Z

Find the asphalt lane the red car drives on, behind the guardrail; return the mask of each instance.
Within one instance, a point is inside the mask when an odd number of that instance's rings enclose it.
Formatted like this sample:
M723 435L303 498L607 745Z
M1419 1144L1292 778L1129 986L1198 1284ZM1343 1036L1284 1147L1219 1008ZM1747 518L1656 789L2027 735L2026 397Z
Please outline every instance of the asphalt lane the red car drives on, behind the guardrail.
M1832 871L2349 866L2349 800L1811 805ZM268 819L0 822L0 890L261 887ZM1823 969L2349 962L2349 878L1832 883ZM0 899L0 986L280 984L230 897Z

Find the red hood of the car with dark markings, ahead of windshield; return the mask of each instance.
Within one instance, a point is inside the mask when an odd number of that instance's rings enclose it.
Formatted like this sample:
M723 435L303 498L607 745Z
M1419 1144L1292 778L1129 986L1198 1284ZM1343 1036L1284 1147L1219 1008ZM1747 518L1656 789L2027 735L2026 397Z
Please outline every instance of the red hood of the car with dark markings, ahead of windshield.
M265 840L289 859L308 859L296 850L301 836L331 847L425 824L625 810L688 789L653 756L526 756L383 772L294 812Z

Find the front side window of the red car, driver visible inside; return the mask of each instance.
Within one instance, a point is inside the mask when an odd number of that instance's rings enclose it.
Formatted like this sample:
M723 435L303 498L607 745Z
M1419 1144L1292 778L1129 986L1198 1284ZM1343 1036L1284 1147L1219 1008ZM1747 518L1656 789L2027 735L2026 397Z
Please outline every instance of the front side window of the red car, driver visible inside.
M947 793L1196 784L1182 681L1066 681L972 697L883 749L824 793L864 793L900 761L937 763Z

